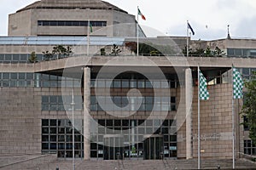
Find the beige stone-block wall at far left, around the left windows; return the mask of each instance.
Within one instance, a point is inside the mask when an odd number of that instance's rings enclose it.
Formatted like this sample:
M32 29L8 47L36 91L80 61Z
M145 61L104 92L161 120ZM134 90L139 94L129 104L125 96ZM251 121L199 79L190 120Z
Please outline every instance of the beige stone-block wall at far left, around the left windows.
M41 120L68 118L66 111L42 111L41 96L61 94L70 95L61 88L0 88L0 156L41 154Z

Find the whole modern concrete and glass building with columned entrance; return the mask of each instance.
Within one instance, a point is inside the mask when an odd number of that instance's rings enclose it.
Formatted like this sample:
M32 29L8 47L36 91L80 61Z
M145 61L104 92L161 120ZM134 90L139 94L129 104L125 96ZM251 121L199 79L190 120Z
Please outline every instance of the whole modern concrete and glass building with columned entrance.
M232 157L230 69L233 64L250 78L255 40L190 41L192 48L218 47L225 54L183 57L186 37L140 38L160 53L137 56L132 52L137 40L114 37L116 31L87 39L79 37L87 28L44 27L47 20L67 20L65 15L86 25L88 4L102 14L106 26L130 19L135 24L122 9L101 1L50 2L42 0L10 15L9 37L0 37L0 156L52 153L70 158L74 124L76 158L196 158L200 65L210 94L201 101L201 158ZM83 8L74 8L78 6ZM83 11L82 16L76 11ZM29 28L21 20L29 20ZM60 48L66 50L59 53ZM235 101L236 157L256 154L247 129L239 125L241 104L241 99Z

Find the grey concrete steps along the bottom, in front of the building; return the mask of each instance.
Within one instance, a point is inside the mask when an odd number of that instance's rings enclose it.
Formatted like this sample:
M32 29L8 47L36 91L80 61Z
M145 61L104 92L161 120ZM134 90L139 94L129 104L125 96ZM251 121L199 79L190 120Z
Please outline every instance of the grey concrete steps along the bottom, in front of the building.
M162 169L197 169L197 160L125 160L125 161L75 161L76 170L162 170ZM30 170L71 170L73 161L54 161L38 167L26 167ZM202 160L201 169L232 169L232 160ZM20 168L23 169L23 168ZM236 160L236 169L256 169L256 163Z

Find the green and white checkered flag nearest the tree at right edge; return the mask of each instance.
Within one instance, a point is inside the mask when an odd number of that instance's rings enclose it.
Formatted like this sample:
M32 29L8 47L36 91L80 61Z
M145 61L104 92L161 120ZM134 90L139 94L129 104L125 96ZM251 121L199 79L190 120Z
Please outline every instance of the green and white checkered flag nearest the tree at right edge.
M234 99L242 98L243 85L244 85L244 83L241 79L240 72L237 71L237 69L233 67L233 98Z

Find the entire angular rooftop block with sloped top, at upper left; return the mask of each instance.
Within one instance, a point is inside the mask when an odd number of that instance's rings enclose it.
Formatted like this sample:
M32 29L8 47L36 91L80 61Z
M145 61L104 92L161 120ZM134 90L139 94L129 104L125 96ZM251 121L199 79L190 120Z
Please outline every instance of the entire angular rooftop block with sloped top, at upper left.
M41 0L32 3L9 15L9 36L84 37L90 30L89 22L94 36L137 36L134 15L100 0ZM120 23L129 26L113 26ZM98 31L100 29L103 31Z

